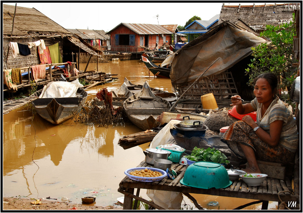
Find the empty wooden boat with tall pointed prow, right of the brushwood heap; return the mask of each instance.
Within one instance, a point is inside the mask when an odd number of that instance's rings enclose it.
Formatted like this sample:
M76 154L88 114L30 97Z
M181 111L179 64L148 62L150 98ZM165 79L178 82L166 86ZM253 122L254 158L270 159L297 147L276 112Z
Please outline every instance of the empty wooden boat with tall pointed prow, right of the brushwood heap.
M155 96L145 81L140 92L132 95L123 103L128 119L140 129L147 130L158 127L157 117L171 108L170 103Z

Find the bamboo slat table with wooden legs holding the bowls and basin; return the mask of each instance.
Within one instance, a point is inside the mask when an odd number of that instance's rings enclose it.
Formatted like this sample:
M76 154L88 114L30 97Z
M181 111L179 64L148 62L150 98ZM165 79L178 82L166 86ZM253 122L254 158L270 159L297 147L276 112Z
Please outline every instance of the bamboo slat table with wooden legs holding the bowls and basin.
M137 167L153 167L153 165L150 165L143 160ZM296 208L299 207L300 196L297 195L296 192L294 192L294 190L298 191L299 189L296 187L294 187L295 189L292 189L291 180L288 177L286 177L285 180L267 178L260 186L248 186L244 181L242 181L241 178L239 178L238 180L233 180L231 186L227 188L201 189L185 186L180 183L180 180L184 177L185 174L185 165L173 163L171 168L174 169L178 174L175 180L170 180L168 179L168 177L165 177L163 180L148 183L131 180L126 176L120 182L118 188L118 192L125 195L123 209L132 209L133 198L135 200L147 203L154 208L161 210L163 209L162 207L150 201L147 201L142 197L139 197L140 189L182 192L193 201L193 203L198 209L203 208L189 193L259 200L259 203L262 202L262 209L268 208L268 201L286 202L286 205L288 202L297 202ZM135 188L137 188L136 195L134 194ZM236 209L241 209L241 207L238 207Z

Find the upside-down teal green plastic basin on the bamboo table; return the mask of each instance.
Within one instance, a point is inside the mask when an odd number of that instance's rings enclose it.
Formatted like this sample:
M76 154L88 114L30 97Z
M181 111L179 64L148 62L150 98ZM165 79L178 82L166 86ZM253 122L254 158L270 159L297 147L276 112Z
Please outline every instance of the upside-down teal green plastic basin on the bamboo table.
M232 182L221 164L198 161L187 167L180 183L201 189L219 189L230 186Z

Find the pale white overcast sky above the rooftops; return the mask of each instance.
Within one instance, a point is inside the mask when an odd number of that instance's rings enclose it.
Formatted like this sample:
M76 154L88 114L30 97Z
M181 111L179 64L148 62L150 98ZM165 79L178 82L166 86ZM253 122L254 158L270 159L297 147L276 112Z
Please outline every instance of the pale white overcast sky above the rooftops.
M15 5L16 2L3 4ZM225 3L225 2L224 2ZM225 5L253 5L234 2ZM264 3L256 3L263 5ZM269 4L269 3L267 3ZM177 24L184 26L194 15L209 20L220 14L223 2L17 2L17 6L35 8L65 29L109 30L120 23ZM158 18L156 17L158 15Z

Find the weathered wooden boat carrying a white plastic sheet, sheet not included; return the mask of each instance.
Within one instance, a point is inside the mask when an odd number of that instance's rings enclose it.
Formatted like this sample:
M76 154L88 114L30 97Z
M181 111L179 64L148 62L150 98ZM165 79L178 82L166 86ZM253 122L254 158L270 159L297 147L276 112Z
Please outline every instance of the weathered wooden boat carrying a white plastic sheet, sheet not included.
M30 97L39 97L43 89ZM76 97L70 98L38 98L32 101L36 112L48 122L58 125L72 118L85 104L87 92L78 88Z

